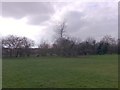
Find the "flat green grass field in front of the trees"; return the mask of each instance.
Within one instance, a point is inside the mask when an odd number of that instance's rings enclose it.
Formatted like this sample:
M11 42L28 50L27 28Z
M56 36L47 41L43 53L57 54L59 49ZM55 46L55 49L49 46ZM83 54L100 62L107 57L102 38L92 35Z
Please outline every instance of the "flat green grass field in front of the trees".
M117 87L117 55L3 59L3 88Z

